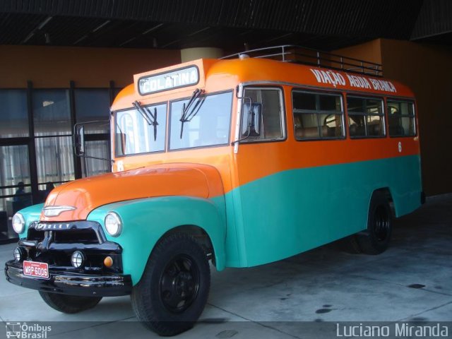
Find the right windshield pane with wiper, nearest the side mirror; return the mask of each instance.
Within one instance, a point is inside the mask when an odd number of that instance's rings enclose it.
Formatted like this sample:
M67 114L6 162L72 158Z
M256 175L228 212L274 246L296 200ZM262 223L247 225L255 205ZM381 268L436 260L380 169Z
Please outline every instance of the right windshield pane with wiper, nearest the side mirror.
M169 149L179 150L229 143L232 92L196 97L171 103Z

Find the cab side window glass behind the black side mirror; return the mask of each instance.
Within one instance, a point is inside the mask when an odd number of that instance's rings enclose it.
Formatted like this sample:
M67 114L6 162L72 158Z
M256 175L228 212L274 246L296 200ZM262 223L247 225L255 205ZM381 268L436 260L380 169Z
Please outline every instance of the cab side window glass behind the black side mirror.
M278 88L245 88L244 103L260 103L262 105L261 133L258 136L250 135L246 141L280 140L285 138L284 109L282 105L282 91ZM242 112L242 135L248 134L248 117Z

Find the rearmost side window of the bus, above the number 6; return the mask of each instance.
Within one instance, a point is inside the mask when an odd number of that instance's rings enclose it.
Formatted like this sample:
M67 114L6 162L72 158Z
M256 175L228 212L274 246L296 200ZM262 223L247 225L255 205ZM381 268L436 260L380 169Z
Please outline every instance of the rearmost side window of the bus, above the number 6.
M389 136L415 136L415 105L413 102L388 100Z

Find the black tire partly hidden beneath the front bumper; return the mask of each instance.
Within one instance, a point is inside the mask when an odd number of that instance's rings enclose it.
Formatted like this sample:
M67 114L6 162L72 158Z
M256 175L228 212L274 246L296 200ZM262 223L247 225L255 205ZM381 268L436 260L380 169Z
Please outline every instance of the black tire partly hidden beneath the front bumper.
M40 295L49 307L67 314L92 309L102 299L102 297L79 297L78 295L60 295L59 293L42 291L40 291Z

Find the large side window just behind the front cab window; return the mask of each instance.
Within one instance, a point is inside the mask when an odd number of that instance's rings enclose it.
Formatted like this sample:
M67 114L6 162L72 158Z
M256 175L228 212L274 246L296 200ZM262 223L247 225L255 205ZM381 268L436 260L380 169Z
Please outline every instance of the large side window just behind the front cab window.
M292 93L295 138L343 138L342 97L294 90Z

